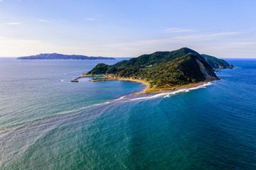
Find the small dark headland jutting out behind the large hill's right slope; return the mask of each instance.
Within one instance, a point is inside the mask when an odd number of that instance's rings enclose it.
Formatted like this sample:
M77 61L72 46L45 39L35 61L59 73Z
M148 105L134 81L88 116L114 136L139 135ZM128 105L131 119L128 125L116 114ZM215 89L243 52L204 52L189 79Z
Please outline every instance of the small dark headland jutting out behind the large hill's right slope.
M208 62L208 64L210 64L210 67L212 67L213 69L232 69L233 68L233 65L228 64L228 62L226 62L225 60L218 59L210 55L201 55L201 56L204 57L206 62Z

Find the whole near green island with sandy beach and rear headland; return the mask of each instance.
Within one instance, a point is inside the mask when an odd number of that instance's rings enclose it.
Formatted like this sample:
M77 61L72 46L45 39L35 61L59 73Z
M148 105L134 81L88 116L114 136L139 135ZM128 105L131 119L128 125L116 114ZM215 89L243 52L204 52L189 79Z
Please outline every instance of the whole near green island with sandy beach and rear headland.
M233 66L225 60L200 55L194 50L183 47L171 52L141 55L113 65L97 64L82 77L93 77L90 81L140 81L147 85L147 89L143 92L155 93L218 80L214 69L224 68L233 68Z

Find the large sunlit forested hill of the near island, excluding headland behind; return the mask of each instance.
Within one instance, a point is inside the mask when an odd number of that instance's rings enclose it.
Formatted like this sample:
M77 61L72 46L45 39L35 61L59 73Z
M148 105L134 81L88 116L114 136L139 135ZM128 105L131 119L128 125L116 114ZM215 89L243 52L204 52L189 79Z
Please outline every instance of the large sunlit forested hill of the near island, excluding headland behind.
M218 79L206 60L187 47L141 55L113 65L97 64L87 74L115 74L117 77L143 79L156 89Z

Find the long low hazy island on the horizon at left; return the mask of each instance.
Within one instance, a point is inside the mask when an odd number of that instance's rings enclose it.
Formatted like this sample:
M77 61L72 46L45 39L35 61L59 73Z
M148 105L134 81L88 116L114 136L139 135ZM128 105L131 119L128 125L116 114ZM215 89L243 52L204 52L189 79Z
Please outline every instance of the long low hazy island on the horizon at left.
M18 57L18 60L115 60L113 57L88 57L85 55L61 55L57 53Z

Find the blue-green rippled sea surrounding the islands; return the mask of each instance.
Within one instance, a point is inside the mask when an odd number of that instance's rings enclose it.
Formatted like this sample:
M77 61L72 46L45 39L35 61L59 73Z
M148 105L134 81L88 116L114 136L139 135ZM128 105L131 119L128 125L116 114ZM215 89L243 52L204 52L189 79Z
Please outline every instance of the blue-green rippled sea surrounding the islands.
M176 94L70 82L120 60L0 58L0 169L256 169L256 60Z

